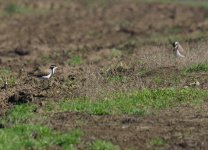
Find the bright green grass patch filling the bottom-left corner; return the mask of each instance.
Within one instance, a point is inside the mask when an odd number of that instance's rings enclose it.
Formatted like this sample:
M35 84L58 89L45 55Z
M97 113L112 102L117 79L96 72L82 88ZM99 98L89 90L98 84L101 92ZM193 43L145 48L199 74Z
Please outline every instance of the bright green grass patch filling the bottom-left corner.
M58 133L41 125L44 115L35 113L35 105L17 105L1 120L5 128L0 129L0 149L48 149L60 147L73 149L83 133L74 130L70 133ZM12 143L12 144L11 144Z

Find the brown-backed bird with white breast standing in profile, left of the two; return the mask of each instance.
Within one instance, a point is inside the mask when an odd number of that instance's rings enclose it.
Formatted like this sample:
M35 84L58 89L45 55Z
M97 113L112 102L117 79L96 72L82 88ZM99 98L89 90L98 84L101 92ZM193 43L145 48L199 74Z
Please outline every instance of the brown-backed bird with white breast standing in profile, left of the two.
M55 70L58 67L56 67L56 65L51 65L49 69L38 69L37 71L35 71L33 73L33 76L39 79L43 79L43 80L49 80L55 73ZM48 83L49 84L49 83ZM49 87L49 85L48 85Z

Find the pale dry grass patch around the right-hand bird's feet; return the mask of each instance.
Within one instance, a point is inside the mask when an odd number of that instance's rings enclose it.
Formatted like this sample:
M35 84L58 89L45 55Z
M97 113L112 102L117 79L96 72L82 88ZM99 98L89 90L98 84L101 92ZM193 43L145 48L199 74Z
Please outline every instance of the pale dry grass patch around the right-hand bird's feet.
M182 45L188 50L184 59L175 57L171 45L163 45L138 48L132 54L103 61L106 65L101 62L101 67L99 63L86 64L80 78L82 82L77 82L76 94L99 99L116 92L184 87L188 84L186 80L195 77L183 78L182 71L193 64L206 64L208 53L207 42Z

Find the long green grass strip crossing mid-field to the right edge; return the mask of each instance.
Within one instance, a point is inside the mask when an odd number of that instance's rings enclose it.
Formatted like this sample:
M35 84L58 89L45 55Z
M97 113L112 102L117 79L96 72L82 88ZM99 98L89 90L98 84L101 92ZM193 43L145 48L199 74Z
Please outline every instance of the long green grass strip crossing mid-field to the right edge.
M97 101L91 101L87 98L65 99L58 104L48 103L45 111L75 111L93 115L145 115L181 104L201 103L207 97L207 91L200 89L144 89L132 93L117 93Z

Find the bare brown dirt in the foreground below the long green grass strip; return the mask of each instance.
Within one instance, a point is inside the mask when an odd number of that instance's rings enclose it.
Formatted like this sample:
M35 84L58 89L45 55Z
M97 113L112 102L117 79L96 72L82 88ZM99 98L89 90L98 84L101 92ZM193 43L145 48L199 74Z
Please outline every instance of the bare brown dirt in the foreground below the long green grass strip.
M81 149L95 139L111 141L121 149L206 149L207 108L207 103L181 106L146 117L56 113L50 124L62 131L82 129L85 137ZM156 138L163 139L165 144L152 145L151 140Z

